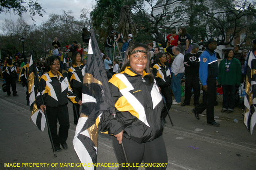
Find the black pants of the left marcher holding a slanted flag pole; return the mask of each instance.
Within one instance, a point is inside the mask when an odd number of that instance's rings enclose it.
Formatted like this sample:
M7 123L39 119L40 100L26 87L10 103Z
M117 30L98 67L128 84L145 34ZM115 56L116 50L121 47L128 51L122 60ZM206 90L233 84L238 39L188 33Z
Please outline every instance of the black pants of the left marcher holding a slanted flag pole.
M46 106L46 114L54 147L60 146L60 143L66 143L69 129L68 105L59 107ZM60 124L59 135L57 133L57 120L59 120Z

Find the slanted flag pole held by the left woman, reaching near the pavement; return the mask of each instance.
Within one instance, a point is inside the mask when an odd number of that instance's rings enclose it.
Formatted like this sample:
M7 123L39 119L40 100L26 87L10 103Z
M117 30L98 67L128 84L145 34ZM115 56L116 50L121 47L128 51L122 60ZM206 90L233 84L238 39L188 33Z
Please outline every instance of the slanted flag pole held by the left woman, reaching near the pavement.
M33 54L33 51L31 51L31 57L32 57L32 60L33 60L33 72L34 73L37 73L37 70L36 70L36 67L35 67L35 60L34 60L34 54ZM38 74L34 75L35 76L35 81L36 83L39 85L39 80L38 80ZM39 86L38 88L39 92L40 92L40 97L41 97L41 100L42 100L42 103L43 105L45 106L44 104L44 99L43 99L43 96L42 96L42 91L41 91L41 88ZM46 114L46 110L44 108L44 114L45 114L45 118L46 118L46 123L47 123L47 126L48 126L48 133L49 133L49 136L50 136L50 141L52 143L52 149L53 149L53 156L54 158L57 157L57 154L56 154L56 151L55 151L55 148L54 148L54 145L53 145L53 140L52 140L52 134L51 134L51 131L50 131L50 127L49 127L49 122L48 122L48 118L47 118L47 114Z

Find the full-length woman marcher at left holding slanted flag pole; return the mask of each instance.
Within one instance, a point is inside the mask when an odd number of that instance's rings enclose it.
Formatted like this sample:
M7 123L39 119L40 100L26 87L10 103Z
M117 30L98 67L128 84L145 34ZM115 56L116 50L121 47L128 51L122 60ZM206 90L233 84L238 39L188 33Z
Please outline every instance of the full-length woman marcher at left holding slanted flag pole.
M39 92L35 103L42 111L45 108L54 149L61 151L60 144L63 149L68 148L66 143L69 129L68 99L80 105L82 105L82 101L72 93L67 77L59 72L59 56L50 56L47 64L50 71L42 75L39 80L45 105L42 104ZM60 124L59 135L57 133L57 120Z

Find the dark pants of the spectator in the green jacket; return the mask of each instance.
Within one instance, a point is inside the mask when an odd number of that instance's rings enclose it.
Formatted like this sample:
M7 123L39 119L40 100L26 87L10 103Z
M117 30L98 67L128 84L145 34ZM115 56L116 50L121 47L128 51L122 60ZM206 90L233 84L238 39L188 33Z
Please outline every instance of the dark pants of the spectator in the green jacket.
M236 104L236 86L222 85L223 91L223 110L231 110L234 111L235 104Z

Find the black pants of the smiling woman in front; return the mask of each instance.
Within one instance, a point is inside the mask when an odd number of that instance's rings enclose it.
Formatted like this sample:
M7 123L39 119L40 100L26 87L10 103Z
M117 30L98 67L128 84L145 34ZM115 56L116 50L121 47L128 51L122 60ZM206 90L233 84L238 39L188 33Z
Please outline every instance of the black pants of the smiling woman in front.
M119 145L118 141L116 140L116 137L112 136L112 142L114 146L114 150L117 155L118 163L125 163L124 160L124 154L121 148L121 145ZM132 139L127 139L123 137L123 143L125 147L125 151L127 153L129 164L135 165L138 163L144 161L144 164L146 165L148 163L158 163L161 165L164 165L162 167L146 167L147 170L165 170L166 169L166 163L167 160L167 153L165 149L165 143L163 141L163 137L160 136L157 139L154 139L154 141L146 142L146 143L138 143L133 141ZM131 170L137 170L139 167L131 167ZM118 170L124 170L127 169L127 167L121 167L119 166Z

